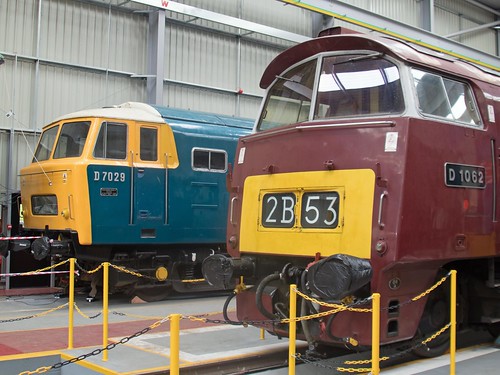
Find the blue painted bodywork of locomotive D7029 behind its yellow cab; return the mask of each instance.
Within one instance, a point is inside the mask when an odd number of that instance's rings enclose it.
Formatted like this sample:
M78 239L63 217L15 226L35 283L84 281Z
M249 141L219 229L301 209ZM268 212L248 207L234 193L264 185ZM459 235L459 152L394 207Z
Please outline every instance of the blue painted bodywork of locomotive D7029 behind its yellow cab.
M228 193L226 174L193 171L194 147L223 149L234 160L237 139L250 133L253 120L165 107L154 107L173 132L179 166L168 170L165 218L163 168L134 168L134 214L130 224L131 168L90 165L88 182L93 244L222 244L225 242ZM117 178L95 181L96 173ZM121 181L123 176L124 181ZM116 189L102 196L101 188ZM109 191L109 190L108 190Z

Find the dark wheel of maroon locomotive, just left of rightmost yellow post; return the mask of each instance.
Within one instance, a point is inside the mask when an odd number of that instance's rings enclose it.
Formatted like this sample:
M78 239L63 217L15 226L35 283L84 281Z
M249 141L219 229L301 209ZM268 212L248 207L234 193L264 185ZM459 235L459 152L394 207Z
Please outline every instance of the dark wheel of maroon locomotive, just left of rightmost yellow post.
M446 282L431 292L425 305L414 341L421 343L434 335L450 321L449 283ZM432 358L446 353L450 347L450 330L447 329L425 345L413 349L419 357Z

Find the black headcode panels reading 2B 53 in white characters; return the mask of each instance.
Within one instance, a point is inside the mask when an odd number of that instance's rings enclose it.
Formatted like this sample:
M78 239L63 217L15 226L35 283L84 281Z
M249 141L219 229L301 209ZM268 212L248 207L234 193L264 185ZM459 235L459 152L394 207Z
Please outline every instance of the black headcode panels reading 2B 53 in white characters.
M300 226L302 228L335 229L339 225L339 193L306 192L300 196ZM267 193L262 199L262 226L292 228L296 222L297 195Z

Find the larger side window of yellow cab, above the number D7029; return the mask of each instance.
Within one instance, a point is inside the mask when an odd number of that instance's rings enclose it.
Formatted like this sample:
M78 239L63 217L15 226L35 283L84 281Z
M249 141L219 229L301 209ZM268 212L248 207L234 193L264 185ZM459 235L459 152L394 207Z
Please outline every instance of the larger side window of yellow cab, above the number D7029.
M94 157L104 159L126 159L127 125L103 122L95 143Z

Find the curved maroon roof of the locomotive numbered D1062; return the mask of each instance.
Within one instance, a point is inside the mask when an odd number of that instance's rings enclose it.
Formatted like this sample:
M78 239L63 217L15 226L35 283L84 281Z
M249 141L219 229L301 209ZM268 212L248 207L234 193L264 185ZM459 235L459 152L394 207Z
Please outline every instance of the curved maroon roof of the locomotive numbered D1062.
M377 51L404 61L425 65L463 77L500 85L500 77L452 56L412 46L390 37L364 34L329 35L297 44L280 53L262 75L260 87L266 89L288 67L323 52L333 51Z

